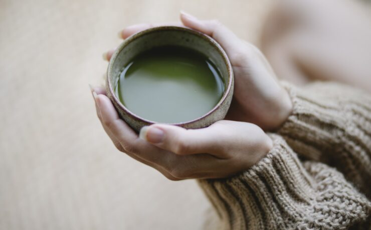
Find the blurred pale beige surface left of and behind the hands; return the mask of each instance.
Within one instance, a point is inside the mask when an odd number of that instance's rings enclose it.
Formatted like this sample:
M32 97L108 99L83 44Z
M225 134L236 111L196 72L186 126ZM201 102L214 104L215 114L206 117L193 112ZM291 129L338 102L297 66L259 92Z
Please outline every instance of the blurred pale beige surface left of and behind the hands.
M93 107L120 28L219 18L255 41L268 0L0 0L0 229L200 229L209 206L117 151Z

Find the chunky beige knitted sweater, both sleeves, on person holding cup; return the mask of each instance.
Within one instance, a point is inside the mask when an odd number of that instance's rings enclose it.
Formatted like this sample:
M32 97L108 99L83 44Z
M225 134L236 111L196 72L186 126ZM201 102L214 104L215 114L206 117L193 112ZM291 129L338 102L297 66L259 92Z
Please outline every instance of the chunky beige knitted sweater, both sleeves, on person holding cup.
M207 229L371 229L371 96L337 83L288 90L273 148L234 177L200 179Z

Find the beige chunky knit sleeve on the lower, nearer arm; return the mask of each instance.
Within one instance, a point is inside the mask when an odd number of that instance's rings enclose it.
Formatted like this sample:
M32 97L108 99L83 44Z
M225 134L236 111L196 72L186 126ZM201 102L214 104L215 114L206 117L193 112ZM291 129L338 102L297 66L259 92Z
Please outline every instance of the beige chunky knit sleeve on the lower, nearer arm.
M271 137L273 148L247 171L198 180L218 229L368 229L371 203L340 172L301 162L281 136Z

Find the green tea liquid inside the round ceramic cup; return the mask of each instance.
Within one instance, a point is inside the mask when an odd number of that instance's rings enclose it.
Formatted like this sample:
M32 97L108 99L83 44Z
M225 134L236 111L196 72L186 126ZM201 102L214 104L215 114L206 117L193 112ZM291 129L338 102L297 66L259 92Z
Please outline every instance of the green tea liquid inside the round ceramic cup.
M224 81L204 54L160 46L135 56L121 71L115 93L134 114L155 122L190 121L222 98Z

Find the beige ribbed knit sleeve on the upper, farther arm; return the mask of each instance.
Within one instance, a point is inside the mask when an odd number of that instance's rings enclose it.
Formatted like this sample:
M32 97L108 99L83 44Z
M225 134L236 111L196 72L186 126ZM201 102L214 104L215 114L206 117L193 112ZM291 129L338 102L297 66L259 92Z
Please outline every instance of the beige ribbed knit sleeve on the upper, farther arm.
M371 197L371 95L339 83L282 82L293 112L277 131L301 157L336 167Z

